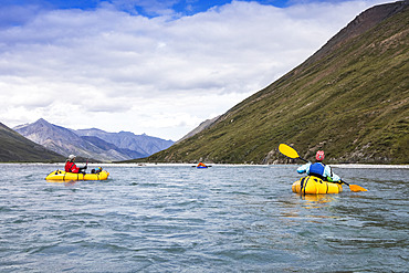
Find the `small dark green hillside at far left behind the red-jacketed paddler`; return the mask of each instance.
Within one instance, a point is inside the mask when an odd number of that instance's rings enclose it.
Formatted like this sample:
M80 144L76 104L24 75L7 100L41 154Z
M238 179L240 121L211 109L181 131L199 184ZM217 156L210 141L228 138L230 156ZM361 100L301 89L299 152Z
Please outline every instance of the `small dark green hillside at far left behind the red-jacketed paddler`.
M0 162L64 161L59 154L45 149L0 123Z

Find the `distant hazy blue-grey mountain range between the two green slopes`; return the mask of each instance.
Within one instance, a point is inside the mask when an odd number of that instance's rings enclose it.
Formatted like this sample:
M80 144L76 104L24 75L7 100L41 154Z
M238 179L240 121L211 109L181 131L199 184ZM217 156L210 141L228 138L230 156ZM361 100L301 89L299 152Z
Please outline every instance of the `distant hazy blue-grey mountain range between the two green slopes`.
M120 161L147 157L174 144L129 132L107 133L101 129L73 130L40 118L13 128L28 139L60 155L81 156L99 161Z

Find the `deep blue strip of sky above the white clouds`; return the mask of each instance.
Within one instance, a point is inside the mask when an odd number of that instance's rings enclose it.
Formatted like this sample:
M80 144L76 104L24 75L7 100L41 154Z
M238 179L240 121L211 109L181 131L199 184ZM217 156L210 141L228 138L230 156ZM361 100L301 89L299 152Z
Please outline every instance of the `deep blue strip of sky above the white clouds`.
M148 18L170 13L174 17L183 17L206 12L211 8L231 2L231 0L1 0L2 8L0 10L3 12L0 11L0 25L22 24L39 12L46 10L80 9L91 11L111 6L116 10ZM245 2L287 8L306 3L340 3L345 0L254 0Z

